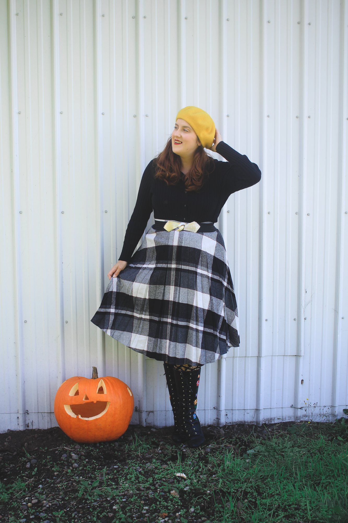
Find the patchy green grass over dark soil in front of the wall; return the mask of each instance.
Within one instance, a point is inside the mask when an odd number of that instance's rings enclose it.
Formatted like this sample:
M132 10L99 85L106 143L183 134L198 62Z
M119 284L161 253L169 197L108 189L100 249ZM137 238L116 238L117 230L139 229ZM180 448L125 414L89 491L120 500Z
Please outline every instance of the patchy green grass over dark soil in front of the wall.
M57 454L56 443L35 453L17 446L17 468L1 469L12 474L9 485L0 482L1 521L42 521L45 498L45 514L54 523L346 523L345 419L262 428L265 434L257 427L225 427L223 436L213 434L201 449L174 446L168 429L139 436L132 428L115 444L81 445L78 451L68 438ZM79 453L78 470L70 469L72 452ZM25 464L34 455L32 474ZM32 497L38 505L21 506Z

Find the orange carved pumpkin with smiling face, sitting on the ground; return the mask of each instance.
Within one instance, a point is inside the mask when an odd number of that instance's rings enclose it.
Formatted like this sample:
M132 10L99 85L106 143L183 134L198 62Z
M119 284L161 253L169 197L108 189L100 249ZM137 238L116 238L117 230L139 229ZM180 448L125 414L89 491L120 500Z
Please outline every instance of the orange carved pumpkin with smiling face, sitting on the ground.
M67 436L79 443L112 441L125 433L134 409L131 389L106 376L74 376L61 384L54 399L54 415Z

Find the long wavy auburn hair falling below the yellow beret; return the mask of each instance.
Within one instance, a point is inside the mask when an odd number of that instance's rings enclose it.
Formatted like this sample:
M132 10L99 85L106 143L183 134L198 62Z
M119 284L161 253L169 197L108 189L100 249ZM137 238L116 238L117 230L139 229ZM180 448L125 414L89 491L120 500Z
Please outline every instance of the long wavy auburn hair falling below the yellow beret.
M167 185L176 185L181 178L181 158L173 153L171 136L164 150L155 158L155 178L164 180ZM187 191L199 191L207 177L215 168L213 157L199 145L193 157L191 169L185 175L184 184Z

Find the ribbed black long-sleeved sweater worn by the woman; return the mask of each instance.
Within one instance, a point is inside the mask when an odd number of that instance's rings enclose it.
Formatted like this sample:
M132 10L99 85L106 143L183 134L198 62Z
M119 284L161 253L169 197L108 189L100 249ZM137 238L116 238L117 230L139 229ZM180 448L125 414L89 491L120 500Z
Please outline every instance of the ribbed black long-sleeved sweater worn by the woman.
M186 191L182 179L176 185L167 185L154 178L155 165L150 161L141 179L120 260L130 261L152 211L155 219L215 223L229 195L260 181L259 167L245 154L223 141L217 144L216 152L227 162L214 159L215 168L199 191Z

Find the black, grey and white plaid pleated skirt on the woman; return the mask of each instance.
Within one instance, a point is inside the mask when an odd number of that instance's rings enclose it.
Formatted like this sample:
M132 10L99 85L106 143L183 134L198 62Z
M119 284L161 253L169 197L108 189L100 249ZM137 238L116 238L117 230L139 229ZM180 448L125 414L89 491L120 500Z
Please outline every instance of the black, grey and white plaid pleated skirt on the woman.
M239 347L238 311L221 233L150 228L111 278L91 322L167 363L211 363Z

